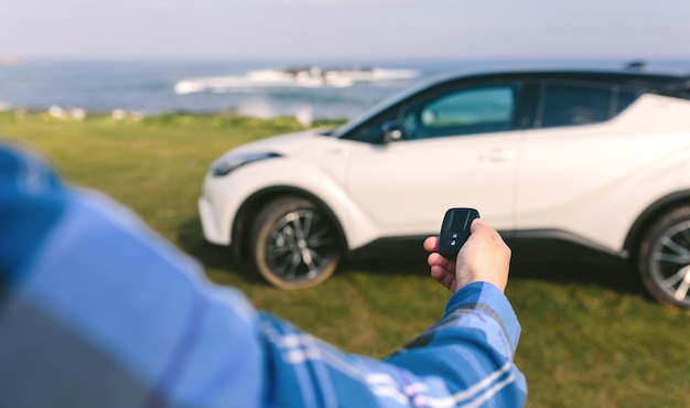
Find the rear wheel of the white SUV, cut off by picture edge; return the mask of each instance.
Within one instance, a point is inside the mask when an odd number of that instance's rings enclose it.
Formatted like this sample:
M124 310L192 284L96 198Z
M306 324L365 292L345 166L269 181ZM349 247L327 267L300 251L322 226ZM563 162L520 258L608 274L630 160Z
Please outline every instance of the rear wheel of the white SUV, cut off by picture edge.
M657 301L690 308L690 206L671 210L647 229L637 260Z

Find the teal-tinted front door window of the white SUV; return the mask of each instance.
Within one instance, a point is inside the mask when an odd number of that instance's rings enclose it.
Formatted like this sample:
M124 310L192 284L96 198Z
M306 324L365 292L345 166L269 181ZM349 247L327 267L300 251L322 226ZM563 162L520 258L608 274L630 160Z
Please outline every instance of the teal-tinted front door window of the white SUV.
M402 117L408 139L510 130L516 86L456 89L411 106Z

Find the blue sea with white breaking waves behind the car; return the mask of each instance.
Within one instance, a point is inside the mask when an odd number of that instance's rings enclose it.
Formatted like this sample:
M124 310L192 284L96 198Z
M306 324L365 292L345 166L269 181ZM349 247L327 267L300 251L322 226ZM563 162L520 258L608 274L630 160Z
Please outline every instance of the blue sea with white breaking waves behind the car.
M637 60L639 62L640 60ZM504 68L621 68L623 58L368 61L2 60L0 110L237 114L348 119L416 82ZM690 74L690 58L644 61Z

